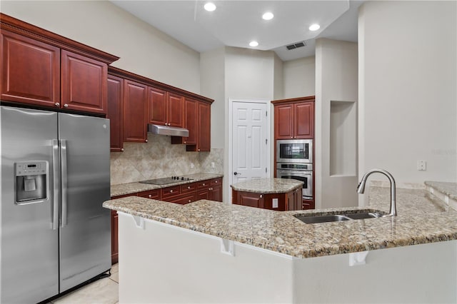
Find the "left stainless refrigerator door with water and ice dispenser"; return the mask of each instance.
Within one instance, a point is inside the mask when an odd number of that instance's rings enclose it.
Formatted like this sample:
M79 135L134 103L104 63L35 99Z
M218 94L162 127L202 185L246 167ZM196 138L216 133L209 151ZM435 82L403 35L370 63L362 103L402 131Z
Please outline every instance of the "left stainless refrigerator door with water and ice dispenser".
M58 136L57 114L0 106L0 116L0 303L38 303L59 293L58 222L53 229L53 202L58 198L52 191L53 168L58 166L52 157L52 139ZM25 197L36 192L41 199L15 203L21 201L15 197L15 163L49 166L49 178L35 182L29 176L31 183L18 186ZM34 190L43 183L46 191ZM58 181L56 186L58 190ZM58 208L59 201L56 203Z

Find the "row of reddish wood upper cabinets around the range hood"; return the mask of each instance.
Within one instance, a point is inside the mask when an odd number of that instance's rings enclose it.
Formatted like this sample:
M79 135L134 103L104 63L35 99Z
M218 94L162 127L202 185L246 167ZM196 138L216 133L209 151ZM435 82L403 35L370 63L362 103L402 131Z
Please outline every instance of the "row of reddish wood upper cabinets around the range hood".
M185 144L187 151L210 151L212 99L114 66L109 75L124 80L124 141L147 141L147 124L154 123L188 128L189 137L171 136L171 143Z

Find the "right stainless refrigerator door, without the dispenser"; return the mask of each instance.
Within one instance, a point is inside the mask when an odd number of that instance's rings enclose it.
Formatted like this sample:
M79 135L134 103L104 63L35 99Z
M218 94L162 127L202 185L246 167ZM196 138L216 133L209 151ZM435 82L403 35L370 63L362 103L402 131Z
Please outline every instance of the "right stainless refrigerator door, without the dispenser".
M109 120L59 113L60 292L111 268Z

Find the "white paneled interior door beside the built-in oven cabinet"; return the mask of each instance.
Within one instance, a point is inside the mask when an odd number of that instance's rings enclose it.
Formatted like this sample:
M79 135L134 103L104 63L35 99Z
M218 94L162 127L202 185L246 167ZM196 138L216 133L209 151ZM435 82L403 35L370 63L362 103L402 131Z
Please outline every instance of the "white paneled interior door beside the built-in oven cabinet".
M231 100L231 184L269 176L268 101Z

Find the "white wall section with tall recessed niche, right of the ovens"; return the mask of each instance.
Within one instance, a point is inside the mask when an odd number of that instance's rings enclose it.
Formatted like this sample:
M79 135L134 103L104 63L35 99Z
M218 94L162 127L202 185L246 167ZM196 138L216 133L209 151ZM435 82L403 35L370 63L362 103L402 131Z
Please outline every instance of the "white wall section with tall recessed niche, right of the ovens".
M346 173L331 175L331 153L342 153L343 149L331 150L331 138L337 128L331 128L331 102L353 102L357 96L357 44L331 39L316 41L316 122L315 139L315 202L316 208L335 208L357 206L356 186L358 176L356 168ZM339 116L335 116L339 117ZM352 117L352 116L350 116ZM345 138L353 138L347 144L356 146L356 116L349 122L352 131ZM340 134L341 136L341 134ZM353 149L356 153L356 148ZM354 165L355 166L355 163Z

